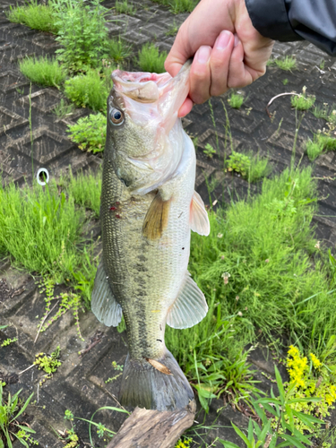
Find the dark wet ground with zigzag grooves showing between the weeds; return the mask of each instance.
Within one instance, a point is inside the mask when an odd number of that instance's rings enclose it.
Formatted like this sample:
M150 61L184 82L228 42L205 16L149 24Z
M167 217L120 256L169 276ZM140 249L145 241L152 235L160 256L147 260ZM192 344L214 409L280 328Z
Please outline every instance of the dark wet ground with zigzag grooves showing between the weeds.
M66 134L68 124L74 123L90 111L77 109L69 119L57 120L51 110L62 98L58 90L33 84L30 94L30 82L19 72L18 60L28 55L54 55L57 44L54 37L47 33L8 22L3 12L11 4L14 2L0 0L0 162L4 180L13 178L22 185L31 177L30 99L35 173L39 168L47 168L51 177L57 177L60 170L67 169L69 165L73 172L98 167L101 159L79 150ZM112 7L114 2L104 4ZM134 4L138 8L134 17L122 16L119 19L123 22L109 22L110 36L122 33L125 39L134 44L134 52L143 43L151 41L157 42L161 49L168 50L174 38L168 37L166 33L174 22L183 22L186 15L174 16L166 8L151 4L150 1ZM110 19L115 18L111 13ZM228 201L232 195L242 197L248 189L244 179L225 175L223 172L223 159L231 151L223 104L228 111L233 148L268 155L273 173L289 166L297 121L288 96L272 103L271 117L265 111L269 100L282 92L300 92L306 86L307 93L316 96L316 104L323 106L323 103L328 103L330 107L336 104L336 60L306 42L275 45L274 57L288 55L297 57L297 70L283 72L279 68L269 67L263 78L243 90L247 99L240 110L229 107L228 94L212 99L216 127L207 103L195 107L184 118L185 130L198 137L196 187L205 200L209 198L205 179L213 185L211 202ZM285 79L288 80L286 85L283 84ZM304 154L303 142L323 126L323 119L317 119L311 112L306 112L297 137L296 160L301 160L302 166L311 163ZM202 150L207 143L217 147L215 131L219 138L219 154L209 159ZM321 198L314 224L317 225L317 237L332 249L336 245L335 162L335 152L324 154L314 162L314 175L319 179ZM257 189L258 185L251 186L252 192ZM95 235L99 236L99 221L94 225ZM87 312L80 315L82 341L73 325L73 316L68 313L49 327L47 332L39 335L34 343L39 322L37 316L43 314L45 305L43 295L39 294L35 280L29 274L13 269L8 260L0 263L0 279L0 325L9 325L0 331L0 341L18 338L17 342L0 349L0 377L8 380L12 392L23 389L25 396L34 392L36 403L30 407L29 413L34 415L32 427L37 431L39 446L64 446L56 438L54 429L64 430L67 426L65 409L71 409L76 417L90 418L100 407L117 406L115 397L121 377L116 377L111 383L105 381L119 373L111 366L112 361L116 361L118 365L124 364L127 351L125 334L98 324L93 314ZM36 353L51 353L57 345L62 348L63 364L51 380L39 386L41 373L35 367L20 375L31 366ZM88 350L80 356L79 351L85 349ZM274 372L271 352L261 344L252 352L250 360L258 371L257 379L262 381L259 387L269 391L271 381L266 376L272 376ZM281 372L285 374L283 368ZM16 374L19 374L19 382ZM212 402L208 422L218 417L216 410L222 405L222 401ZM124 419L124 415L116 411L103 411L95 418L115 431ZM201 416L198 421L201 421ZM212 429L207 436L209 444L217 435L238 443L230 421L244 426L247 418L229 406L222 410L216 424L227 427ZM333 418L332 424L336 424L336 418ZM88 442L87 424L76 421L76 427L83 440ZM96 446L104 444L106 443L96 437Z

